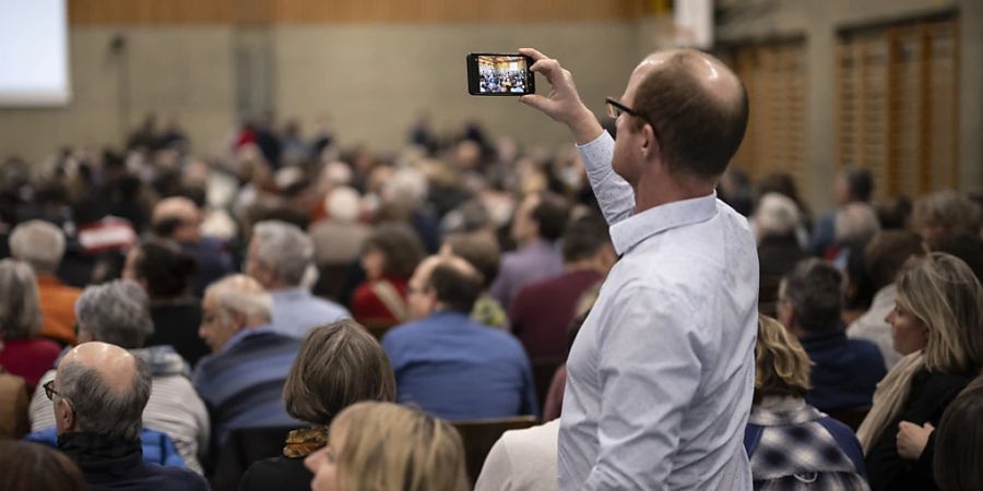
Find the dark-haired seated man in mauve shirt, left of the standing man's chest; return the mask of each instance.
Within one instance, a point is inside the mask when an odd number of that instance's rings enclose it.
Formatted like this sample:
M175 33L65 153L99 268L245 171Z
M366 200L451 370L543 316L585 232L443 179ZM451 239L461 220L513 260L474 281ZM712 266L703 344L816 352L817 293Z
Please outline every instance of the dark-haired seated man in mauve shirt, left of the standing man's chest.
M501 268L492 284L492 296L506 308L525 285L556 276L564 271L564 259L556 241L564 233L570 211L567 202L553 193L529 194L512 218L512 240L519 249L506 252Z

